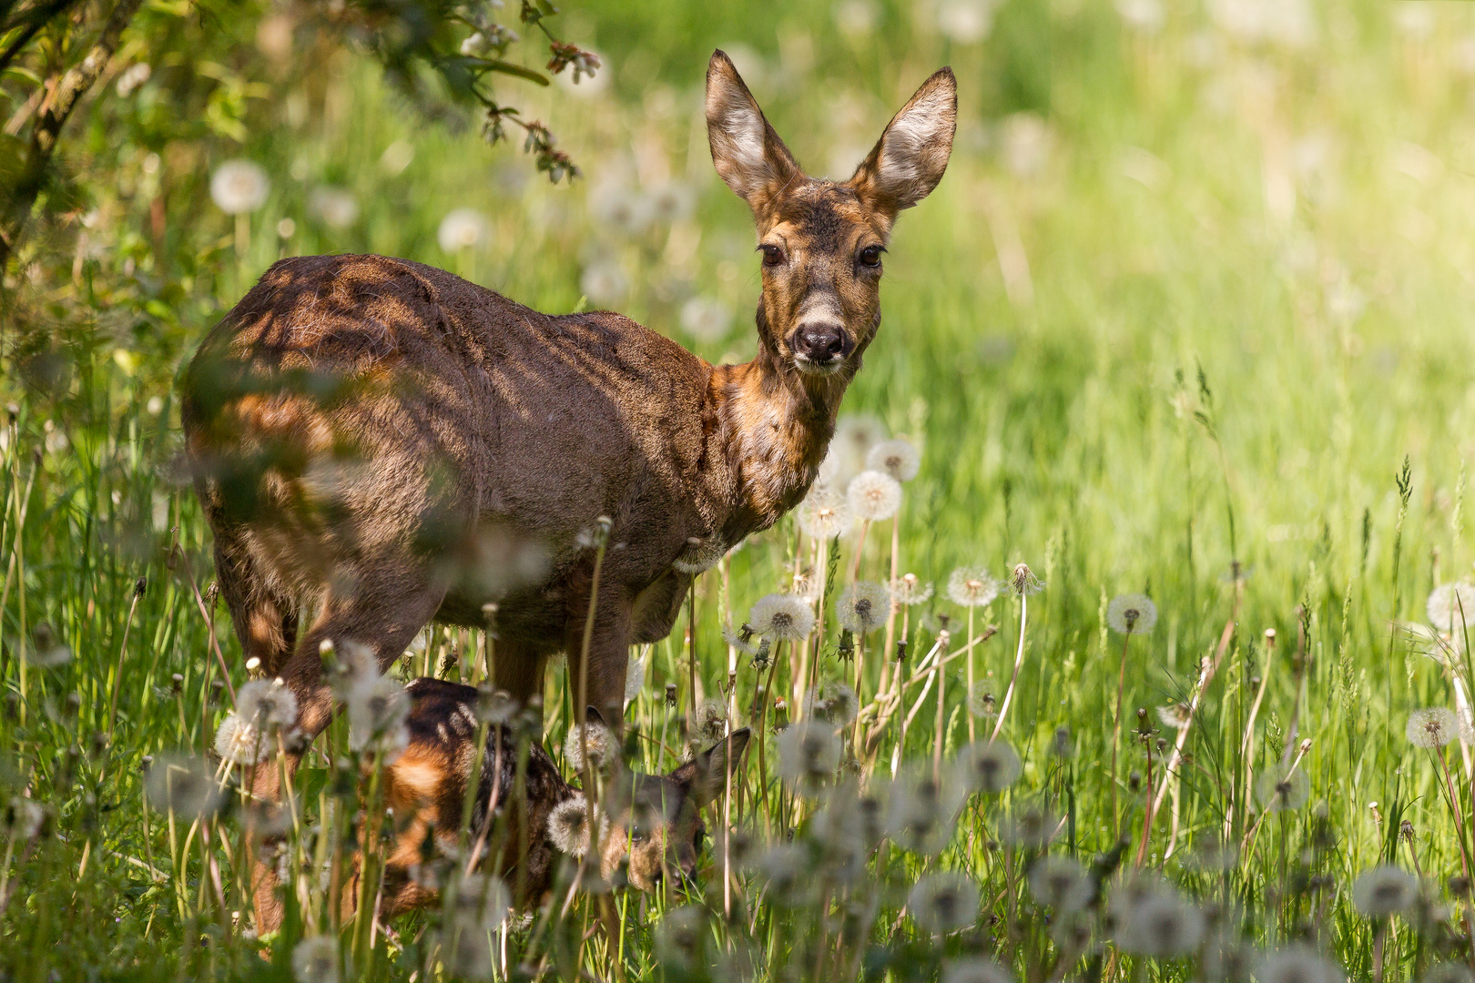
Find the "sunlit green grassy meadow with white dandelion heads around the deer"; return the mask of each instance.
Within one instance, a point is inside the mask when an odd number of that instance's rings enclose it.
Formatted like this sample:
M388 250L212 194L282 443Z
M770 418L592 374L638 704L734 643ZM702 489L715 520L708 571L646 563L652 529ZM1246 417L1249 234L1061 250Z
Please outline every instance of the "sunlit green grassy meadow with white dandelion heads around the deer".
M186 56L124 44L71 124L75 221L6 271L0 980L1475 979L1465 6L587 4L559 21L596 77L518 93L583 169L558 184L294 35L291 4L220 28L254 60L189 106ZM897 223L823 486L631 653L630 766L757 731L698 883L572 893L569 858L531 917L468 921L454 892L339 917L322 872L388 828L342 719L298 783L298 900L258 937L254 806L215 756L252 672L178 371L319 252L751 358L714 47L813 174L848 175L944 63L960 122ZM208 133L109 136L159 113ZM212 195L223 167L249 195ZM774 628L774 594L819 628ZM479 682L488 646L428 629L392 672ZM566 675L530 740L572 778ZM150 793L164 760L218 794Z

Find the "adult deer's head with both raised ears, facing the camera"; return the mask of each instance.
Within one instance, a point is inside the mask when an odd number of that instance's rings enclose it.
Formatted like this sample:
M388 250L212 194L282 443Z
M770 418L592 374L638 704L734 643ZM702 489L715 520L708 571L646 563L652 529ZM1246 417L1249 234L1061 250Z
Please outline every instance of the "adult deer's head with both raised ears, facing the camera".
M763 253L760 343L782 364L807 376L854 374L881 324L881 253L891 225L943 180L956 121L957 83L944 68L922 83L848 181L811 178L732 60L712 55L712 164L752 208Z

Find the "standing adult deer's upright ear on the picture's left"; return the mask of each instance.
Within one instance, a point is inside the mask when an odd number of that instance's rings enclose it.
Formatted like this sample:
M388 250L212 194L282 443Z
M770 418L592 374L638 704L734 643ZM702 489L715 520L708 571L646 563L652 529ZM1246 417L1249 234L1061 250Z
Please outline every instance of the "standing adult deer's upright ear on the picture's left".
M707 65L707 141L717 174L755 212L802 174L723 52Z

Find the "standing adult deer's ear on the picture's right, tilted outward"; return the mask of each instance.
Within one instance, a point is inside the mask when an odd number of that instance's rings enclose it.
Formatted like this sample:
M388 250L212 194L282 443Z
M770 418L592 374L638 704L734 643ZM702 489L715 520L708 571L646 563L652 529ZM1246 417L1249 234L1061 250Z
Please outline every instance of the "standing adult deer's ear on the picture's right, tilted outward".
M957 81L944 68L922 83L876 141L851 187L872 208L895 217L932 193L947 169L957 128Z

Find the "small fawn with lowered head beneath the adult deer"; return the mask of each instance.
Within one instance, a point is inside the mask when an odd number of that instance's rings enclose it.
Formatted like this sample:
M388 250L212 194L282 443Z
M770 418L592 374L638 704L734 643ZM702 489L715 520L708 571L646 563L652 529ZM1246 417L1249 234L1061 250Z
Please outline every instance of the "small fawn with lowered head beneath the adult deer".
M463 815L463 805L475 768L476 690L456 682L423 678L407 687L410 693L410 743L400 758L385 768L385 802L394 809L397 833L385 858L382 914L389 918L403 911L432 902L437 893L414 877L414 867L434 853L438 842L454 844ZM593 710L590 724L603 724ZM678 766L668 775L620 772L606 786L600 812L609 827L597 837L602 849L599 874L606 880L625 865L630 883L640 890L655 890L670 874L690 878L696 871L705 827L701 811L723 790L726 775L736 769L748 747L748 728L733 731L721 741ZM487 808L496 794L493 811L506 809L516 788L518 743L510 728L488 730L481 778L473 790L471 812L472 840L488 825ZM506 809L509 834L503 840L502 856L496 862L509 887L521 886L513 902L535 906L553 884L555 859L568 843L550 828L559 806L574 808L559 816L568 822L583 816L583 837L587 842L587 806L577 805L583 791L563 781L549 753L537 741L530 741L522 774L527 796L527 836L518 809ZM521 853L519 843L527 843ZM478 844L479 846L479 844ZM482 850L485 855L485 850ZM357 892L347 892L354 896Z

